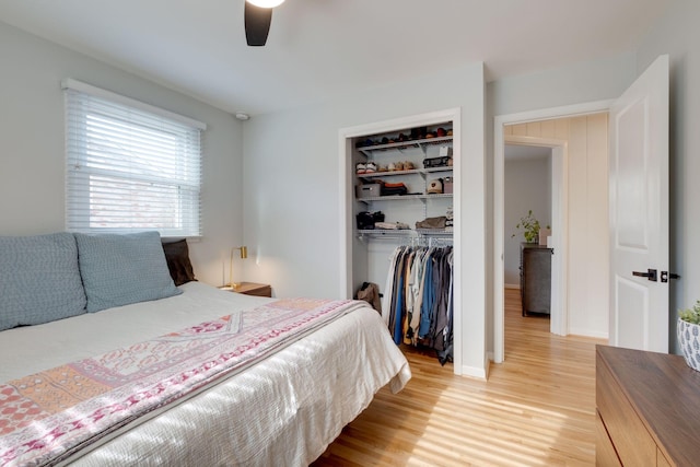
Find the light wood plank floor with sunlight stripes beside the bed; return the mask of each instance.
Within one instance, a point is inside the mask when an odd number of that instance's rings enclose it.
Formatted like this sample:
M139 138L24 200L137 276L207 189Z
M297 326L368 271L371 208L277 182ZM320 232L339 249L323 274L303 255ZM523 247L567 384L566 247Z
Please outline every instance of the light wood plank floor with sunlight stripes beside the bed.
M313 466L592 466L595 343L522 317L505 291L505 362L488 382L404 347L413 377L380 390Z

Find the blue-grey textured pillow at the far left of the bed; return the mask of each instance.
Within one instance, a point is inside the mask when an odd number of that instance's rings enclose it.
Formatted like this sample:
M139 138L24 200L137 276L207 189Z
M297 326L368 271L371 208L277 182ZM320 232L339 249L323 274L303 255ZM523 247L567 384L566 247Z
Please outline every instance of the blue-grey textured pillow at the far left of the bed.
M0 330L83 313L72 234L0 237Z

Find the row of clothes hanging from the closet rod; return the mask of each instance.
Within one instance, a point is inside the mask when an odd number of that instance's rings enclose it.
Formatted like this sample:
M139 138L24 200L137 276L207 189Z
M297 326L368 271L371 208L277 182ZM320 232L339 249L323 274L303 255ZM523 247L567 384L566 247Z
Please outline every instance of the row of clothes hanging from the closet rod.
M394 342L428 347L442 364L453 349L452 246L399 246L390 256L383 317Z

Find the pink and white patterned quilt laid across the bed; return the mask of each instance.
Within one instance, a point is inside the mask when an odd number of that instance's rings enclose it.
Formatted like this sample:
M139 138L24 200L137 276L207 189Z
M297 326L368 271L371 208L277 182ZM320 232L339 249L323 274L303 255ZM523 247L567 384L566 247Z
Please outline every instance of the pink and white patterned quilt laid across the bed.
M0 385L0 465L52 465L364 302L279 300Z

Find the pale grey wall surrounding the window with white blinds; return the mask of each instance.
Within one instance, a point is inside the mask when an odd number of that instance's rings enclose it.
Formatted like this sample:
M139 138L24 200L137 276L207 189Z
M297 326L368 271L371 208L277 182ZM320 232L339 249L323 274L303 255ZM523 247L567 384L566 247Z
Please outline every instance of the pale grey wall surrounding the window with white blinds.
M74 78L207 124L203 237L190 243L190 253L199 280L223 282L222 258L243 237L241 124L224 112L1 22L0 62L0 235L65 230L60 81Z

